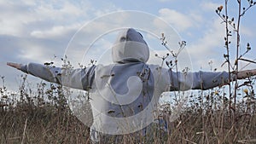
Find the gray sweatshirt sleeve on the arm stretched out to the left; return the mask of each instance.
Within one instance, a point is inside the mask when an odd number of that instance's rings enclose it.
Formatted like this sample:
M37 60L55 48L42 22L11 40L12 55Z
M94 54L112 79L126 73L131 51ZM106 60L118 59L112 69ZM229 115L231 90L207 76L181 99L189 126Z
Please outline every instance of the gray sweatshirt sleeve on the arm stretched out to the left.
M21 71L42 78L48 82L62 84L74 89L88 90L94 81L95 67L67 70L61 67L44 66L37 63L29 63L21 66Z

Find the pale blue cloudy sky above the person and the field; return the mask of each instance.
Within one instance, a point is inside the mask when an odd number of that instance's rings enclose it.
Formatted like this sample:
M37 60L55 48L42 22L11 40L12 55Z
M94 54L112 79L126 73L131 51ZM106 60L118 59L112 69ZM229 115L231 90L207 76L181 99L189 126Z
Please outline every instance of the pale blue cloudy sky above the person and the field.
M234 2L229 9L236 17ZM247 1L242 2L247 7ZM61 57L72 54L71 59L78 58L75 62L101 57L100 63L106 59L102 54L109 52L117 29L126 26L137 26L156 51L164 49L159 40L162 32L171 38L167 42L171 48L173 43L177 45L172 41L172 32L176 32L175 36L187 42L183 51L189 55L186 58L193 71L210 71L209 61L222 71L226 69L221 67L224 24L215 13L220 5L224 0L0 0L0 75L9 89L17 90L22 72L6 66L8 61L26 64L54 60L61 65ZM241 51L250 42L252 50L246 55L250 60L256 59L255 9L250 9L241 22ZM235 48L231 54L235 55ZM256 66L246 68L250 67ZM31 83L37 80L29 77Z

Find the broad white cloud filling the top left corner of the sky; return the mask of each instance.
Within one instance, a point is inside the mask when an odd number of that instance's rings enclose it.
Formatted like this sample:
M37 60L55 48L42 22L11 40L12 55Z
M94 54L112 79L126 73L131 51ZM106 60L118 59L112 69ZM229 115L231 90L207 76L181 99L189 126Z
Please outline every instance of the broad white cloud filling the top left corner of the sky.
M31 32L43 32L88 19L90 4L78 5L60 1L24 1L0 3L0 34L26 37ZM70 25L70 26L69 26Z

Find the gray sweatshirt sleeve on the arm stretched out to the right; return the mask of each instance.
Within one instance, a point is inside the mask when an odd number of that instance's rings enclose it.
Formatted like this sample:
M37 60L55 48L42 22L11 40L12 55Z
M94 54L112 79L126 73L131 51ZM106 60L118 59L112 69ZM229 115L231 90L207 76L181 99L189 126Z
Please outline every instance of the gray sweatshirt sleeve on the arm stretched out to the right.
M228 72L172 72L169 70L169 75L171 90L212 89L229 82Z

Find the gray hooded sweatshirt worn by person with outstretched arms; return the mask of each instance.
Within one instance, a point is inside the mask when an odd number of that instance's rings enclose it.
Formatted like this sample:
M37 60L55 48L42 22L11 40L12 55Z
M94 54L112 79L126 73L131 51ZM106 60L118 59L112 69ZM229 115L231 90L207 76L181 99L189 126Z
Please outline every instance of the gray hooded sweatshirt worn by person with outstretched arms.
M61 67L29 63L21 70L52 83L88 90L94 119L91 129L111 135L142 130L152 123L165 91L211 89L226 84L229 78L228 72L183 73L148 65L148 44L132 28L119 33L112 55L113 64L108 66L67 72Z

